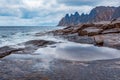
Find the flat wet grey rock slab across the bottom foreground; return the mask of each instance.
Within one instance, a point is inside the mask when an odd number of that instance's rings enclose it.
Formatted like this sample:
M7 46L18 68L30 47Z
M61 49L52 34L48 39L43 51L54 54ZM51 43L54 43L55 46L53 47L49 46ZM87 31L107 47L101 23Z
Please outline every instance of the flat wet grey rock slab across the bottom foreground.
M41 63L40 61L38 61ZM32 60L2 60L1 80L119 80L120 60L76 62L54 60L50 68L33 68ZM40 65L39 65L40 66ZM41 64L42 66L42 64ZM44 70L44 71L43 71Z

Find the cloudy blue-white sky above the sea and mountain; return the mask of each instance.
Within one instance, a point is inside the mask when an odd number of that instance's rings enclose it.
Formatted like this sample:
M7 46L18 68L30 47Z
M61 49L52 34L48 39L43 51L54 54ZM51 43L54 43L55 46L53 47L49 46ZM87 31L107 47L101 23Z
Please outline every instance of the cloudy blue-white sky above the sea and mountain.
M0 0L0 26L54 26L66 13L89 13L120 0Z

